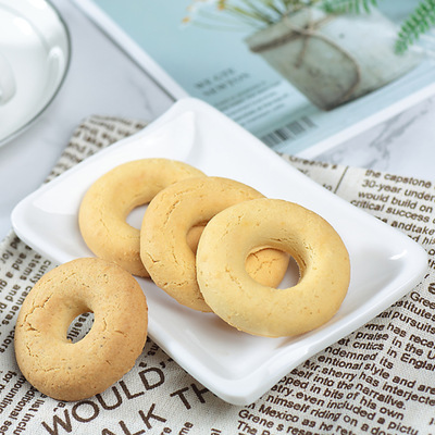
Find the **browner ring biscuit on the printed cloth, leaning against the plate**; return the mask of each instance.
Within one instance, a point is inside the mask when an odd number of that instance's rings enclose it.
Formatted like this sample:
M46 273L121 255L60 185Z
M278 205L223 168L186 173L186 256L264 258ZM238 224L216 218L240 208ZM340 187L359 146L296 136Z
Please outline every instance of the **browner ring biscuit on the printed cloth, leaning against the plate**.
M94 313L89 333L66 338L71 322ZM148 309L136 279L97 258L45 274L29 291L15 327L15 355L27 381L58 400L80 400L127 373L147 338Z

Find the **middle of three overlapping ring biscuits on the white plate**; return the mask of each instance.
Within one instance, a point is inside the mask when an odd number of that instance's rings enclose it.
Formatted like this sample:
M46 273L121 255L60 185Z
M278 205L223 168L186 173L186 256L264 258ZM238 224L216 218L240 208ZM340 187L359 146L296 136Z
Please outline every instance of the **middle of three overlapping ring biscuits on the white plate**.
M152 281L179 303L210 311L199 291L195 248L189 246L188 235L192 228L198 237L201 225L216 213L253 198L263 198L263 195L243 183L222 177L183 179L160 191L149 203L140 228L140 257ZM195 237L190 235L189 238ZM287 254L266 249L256 252L248 269L263 283L277 285L287 265Z

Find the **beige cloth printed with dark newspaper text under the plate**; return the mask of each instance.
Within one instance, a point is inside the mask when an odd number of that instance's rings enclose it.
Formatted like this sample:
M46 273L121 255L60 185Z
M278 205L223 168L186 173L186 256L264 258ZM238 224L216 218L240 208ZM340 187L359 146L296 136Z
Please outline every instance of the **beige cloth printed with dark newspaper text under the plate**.
M144 125L86 120L49 178ZM15 362L20 307L55 264L11 232L0 246L0 435L435 434L434 183L288 154L283 159L423 245L430 256L423 282L291 370L253 403L219 399L151 339L112 387L86 400L63 402L32 387ZM78 316L69 336L79 339L88 323L88 314Z

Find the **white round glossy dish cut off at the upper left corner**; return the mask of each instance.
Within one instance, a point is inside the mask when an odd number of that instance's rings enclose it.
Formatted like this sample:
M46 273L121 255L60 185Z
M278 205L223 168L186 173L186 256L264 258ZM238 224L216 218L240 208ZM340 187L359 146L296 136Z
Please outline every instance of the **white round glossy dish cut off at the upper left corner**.
M69 70L65 23L47 0L0 0L0 145L28 127L59 92Z

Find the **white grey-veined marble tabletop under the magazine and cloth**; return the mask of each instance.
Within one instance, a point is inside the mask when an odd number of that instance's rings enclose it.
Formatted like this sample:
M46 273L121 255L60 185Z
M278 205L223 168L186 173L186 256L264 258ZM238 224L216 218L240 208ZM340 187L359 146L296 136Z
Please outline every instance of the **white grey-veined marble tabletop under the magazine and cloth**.
M173 103L73 4L53 3L70 28L71 67L42 116L0 147L0 239L11 229L14 206L40 186L83 119L100 114L151 121ZM435 181L435 97L319 159Z

